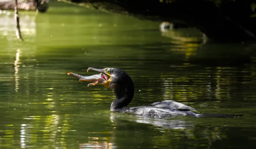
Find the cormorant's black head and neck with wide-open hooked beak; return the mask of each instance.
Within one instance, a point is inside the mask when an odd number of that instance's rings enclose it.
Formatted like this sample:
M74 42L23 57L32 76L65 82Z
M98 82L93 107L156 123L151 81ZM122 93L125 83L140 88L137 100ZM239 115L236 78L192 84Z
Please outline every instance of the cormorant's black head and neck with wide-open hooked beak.
M96 69L92 67L88 68L87 72L89 70L103 72L109 76L109 79L101 85L112 89L116 95L115 101L111 104L111 111L118 111L132 101L134 85L132 78L125 71L118 68Z

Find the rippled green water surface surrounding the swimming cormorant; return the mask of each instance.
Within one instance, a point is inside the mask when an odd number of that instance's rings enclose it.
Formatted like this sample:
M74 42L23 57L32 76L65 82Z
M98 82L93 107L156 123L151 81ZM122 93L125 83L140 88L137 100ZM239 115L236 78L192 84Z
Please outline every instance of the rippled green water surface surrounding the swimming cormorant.
M57 6L58 5L58 6ZM0 148L255 148L255 45L203 44L195 29L51 3L45 14L0 14ZM66 71L118 67L131 106L175 100L238 118L154 120L110 112L115 98Z

